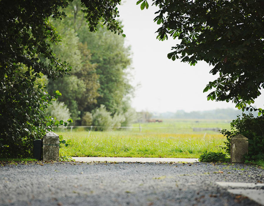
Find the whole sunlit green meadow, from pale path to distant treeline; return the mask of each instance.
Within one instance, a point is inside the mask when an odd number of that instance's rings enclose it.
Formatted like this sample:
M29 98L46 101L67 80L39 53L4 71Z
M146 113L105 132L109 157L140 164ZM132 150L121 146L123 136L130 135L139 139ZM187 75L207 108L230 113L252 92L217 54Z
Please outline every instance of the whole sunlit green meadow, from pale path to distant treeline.
M140 129L141 127L141 129ZM133 128L94 131L90 128L57 130L71 139L61 155L75 157L178 157L198 158L203 152L224 152L226 140L219 132L192 128L230 129L225 120L167 119L162 123L133 124Z

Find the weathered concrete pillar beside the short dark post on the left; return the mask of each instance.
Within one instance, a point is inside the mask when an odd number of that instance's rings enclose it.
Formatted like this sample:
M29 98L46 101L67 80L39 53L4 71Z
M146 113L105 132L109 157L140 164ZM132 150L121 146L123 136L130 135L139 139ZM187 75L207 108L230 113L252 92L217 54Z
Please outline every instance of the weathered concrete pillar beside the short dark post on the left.
M59 161L59 135L54 132L48 132L43 137L43 160Z

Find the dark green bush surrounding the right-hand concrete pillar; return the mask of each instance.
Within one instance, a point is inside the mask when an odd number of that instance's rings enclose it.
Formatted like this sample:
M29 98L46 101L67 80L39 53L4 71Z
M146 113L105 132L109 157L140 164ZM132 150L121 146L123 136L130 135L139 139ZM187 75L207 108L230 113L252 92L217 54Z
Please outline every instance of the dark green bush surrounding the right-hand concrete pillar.
M231 122L231 130L222 130L227 137L225 150L230 153L230 141L236 134L242 134L248 138L248 155L246 160L264 159L264 116L253 117L253 114L242 114Z

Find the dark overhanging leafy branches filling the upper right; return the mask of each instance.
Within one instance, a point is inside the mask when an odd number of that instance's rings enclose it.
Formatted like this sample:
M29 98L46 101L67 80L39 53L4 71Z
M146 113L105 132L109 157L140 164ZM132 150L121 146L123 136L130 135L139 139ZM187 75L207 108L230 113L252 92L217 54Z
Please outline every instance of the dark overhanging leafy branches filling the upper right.
M141 9L147 1L139 0ZM264 88L264 2L261 0L153 0L157 38L178 39L168 58L205 61L219 77L205 87L208 100L232 101L244 109Z

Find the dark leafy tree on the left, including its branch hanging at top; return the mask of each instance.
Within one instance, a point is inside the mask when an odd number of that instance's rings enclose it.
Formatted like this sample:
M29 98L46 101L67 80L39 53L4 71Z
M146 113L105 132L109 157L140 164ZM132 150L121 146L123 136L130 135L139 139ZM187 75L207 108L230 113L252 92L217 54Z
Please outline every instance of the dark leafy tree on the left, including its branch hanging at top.
M122 33L115 18L119 0L82 1L83 12L90 28L106 24L115 33ZM0 155L26 156L31 153L33 139L41 138L47 129L65 124L43 113L53 99L61 95L47 94L38 80L42 74L58 79L71 67L56 57L51 44L61 41L48 20L62 19L60 9L67 0L0 1ZM47 59L47 62L41 59ZM53 91L52 91L53 93Z

